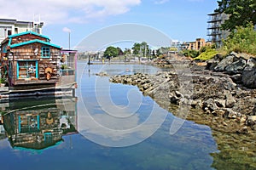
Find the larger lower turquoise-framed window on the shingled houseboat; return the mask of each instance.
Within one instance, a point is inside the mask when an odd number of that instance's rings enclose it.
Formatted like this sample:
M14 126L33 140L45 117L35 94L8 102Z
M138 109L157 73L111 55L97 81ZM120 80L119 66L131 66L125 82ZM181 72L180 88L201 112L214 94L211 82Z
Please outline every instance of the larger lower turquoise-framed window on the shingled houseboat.
M38 79L38 61L18 61L17 78Z

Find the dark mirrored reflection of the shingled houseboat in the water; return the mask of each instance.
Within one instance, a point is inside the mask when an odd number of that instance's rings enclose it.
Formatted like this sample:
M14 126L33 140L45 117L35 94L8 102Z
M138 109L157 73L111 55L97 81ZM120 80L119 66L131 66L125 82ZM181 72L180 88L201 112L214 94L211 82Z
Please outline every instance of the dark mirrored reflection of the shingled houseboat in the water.
M40 150L77 133L75 98L12 99L4 110L3 127L12 147Z

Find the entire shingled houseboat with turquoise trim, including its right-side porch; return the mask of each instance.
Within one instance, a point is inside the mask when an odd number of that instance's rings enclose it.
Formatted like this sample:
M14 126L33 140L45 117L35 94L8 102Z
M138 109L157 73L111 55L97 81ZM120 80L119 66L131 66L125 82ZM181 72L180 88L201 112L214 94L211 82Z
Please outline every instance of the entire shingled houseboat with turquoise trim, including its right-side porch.
M76 61L77 51L63 50L47 36L33 31L10 35L1 43L1 82L12 93L75 88Z

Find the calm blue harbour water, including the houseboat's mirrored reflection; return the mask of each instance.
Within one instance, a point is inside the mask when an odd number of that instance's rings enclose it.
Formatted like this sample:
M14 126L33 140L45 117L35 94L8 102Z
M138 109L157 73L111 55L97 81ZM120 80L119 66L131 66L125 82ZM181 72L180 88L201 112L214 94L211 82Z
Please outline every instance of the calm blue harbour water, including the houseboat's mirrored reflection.
M136 87L96 77L100 71L157 69L79 63L77 99L14 99L2 105L12 112L4 116L5 129L0 125L1 169L211 169L210 154L218 150L210 127L185 121L170 134L172 113Z

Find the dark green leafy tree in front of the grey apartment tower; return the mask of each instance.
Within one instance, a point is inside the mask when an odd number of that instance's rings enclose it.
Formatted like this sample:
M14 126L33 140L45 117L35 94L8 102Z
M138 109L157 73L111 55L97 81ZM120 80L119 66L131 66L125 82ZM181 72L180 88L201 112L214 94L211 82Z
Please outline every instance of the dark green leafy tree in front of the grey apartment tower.
M236 26L247 26L249 22L256 24L256 0L219 0L218 13L229 14L222 28L234 31Z

